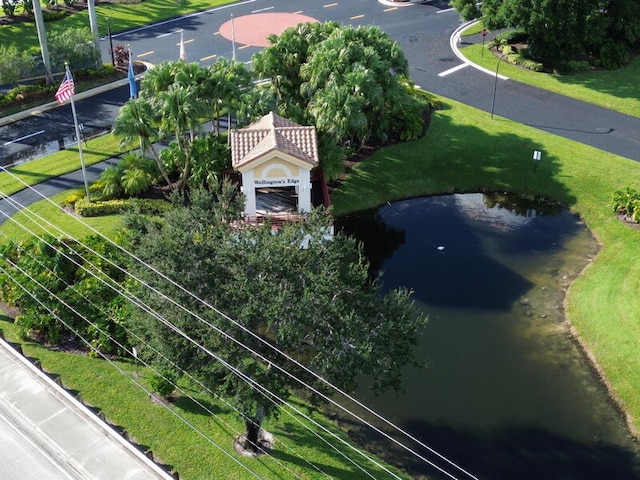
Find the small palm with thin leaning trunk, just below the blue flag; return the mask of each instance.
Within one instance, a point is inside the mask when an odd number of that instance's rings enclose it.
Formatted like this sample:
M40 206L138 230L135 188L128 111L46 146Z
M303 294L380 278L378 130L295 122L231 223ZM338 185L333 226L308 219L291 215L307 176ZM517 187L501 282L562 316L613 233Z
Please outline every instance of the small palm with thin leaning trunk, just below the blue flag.
M153 148L152 139L158 138L158 129L154 124L152 103L144 97L132 98L118 112L113 124L113 134L120 139L120 145L123 146L134 142L137 138L140 144L140 154L143 156L147 149L150 149L162 177L167 185L171 186L171 180L169 180L164 164Z

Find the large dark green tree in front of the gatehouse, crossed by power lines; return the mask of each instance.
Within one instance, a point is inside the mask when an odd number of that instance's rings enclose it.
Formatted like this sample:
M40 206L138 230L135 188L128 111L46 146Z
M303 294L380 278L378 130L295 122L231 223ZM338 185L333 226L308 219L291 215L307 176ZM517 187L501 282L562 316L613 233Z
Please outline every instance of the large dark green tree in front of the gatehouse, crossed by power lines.
M248 448L255 448L263 417L277 415L276 397L287 399L292 389L301 388L287 372L321 392L329 391L270 346L349 392L361 375L370 377L375 391L400 388L403 368L413 362L411 347L425 323L412 308L409 292L383 294L378 281L368 277L367 262L353 238L325 238L328 215L315 212L302 224L283 225L278 235L269 226L238 230L232 225L242 202L230 200L229 192L219 197L193 192L189 207L176 206L160 221L130 217L129 243L140 258L247 330L137 266L131 267L136 275L218 329L150 288L138 291L154 310L219 359L148 314L132 317L132 328L238 406ZM151 349L139 350L154 358ZM276 397L265 397L256 384ZM319 398L312 395L311 400Z

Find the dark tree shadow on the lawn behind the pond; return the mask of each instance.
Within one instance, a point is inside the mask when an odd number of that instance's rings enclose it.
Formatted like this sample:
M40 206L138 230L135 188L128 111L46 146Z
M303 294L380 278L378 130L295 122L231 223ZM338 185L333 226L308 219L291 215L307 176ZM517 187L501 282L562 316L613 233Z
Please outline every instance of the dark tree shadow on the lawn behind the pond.
M560 159L550 151L553 145L540 143L539 135L511 122L489 123L469 107L445 103L433 113L423 138L384 148L361 162L334 192L334 204L338 210L371 208L424 195L500 191L550 198L569 207L576 199L557 180ZM534 151L542 153L537 163Z

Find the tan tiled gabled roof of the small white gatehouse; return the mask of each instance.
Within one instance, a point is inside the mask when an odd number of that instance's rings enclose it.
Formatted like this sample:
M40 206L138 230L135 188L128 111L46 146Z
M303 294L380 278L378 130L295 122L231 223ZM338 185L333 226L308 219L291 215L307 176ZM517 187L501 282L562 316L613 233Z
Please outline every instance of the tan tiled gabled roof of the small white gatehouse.
M312 166L318 164L315 127L298 125L273 112L246 128L232 130L230 135L234 168L246 165L276 149Z

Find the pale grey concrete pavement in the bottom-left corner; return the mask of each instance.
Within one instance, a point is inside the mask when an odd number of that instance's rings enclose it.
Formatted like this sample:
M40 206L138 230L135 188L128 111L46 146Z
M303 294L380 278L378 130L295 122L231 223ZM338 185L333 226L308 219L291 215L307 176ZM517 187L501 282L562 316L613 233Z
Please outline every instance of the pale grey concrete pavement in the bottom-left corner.
M0 340L3 480L170 480L66 390Z

